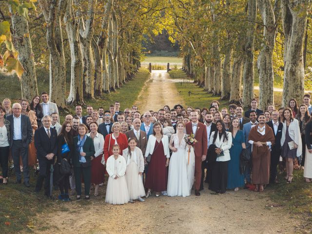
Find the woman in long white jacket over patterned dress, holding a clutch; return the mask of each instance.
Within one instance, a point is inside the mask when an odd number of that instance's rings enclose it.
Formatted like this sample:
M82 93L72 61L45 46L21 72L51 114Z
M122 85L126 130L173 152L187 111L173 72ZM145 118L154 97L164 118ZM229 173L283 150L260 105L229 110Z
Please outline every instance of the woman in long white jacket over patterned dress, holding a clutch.
M302 141L299 122L292 117L292 110L285 108L282 114L283 131L281 137L282 156L286 158L285 179L292 182L293 159L302 155Z

